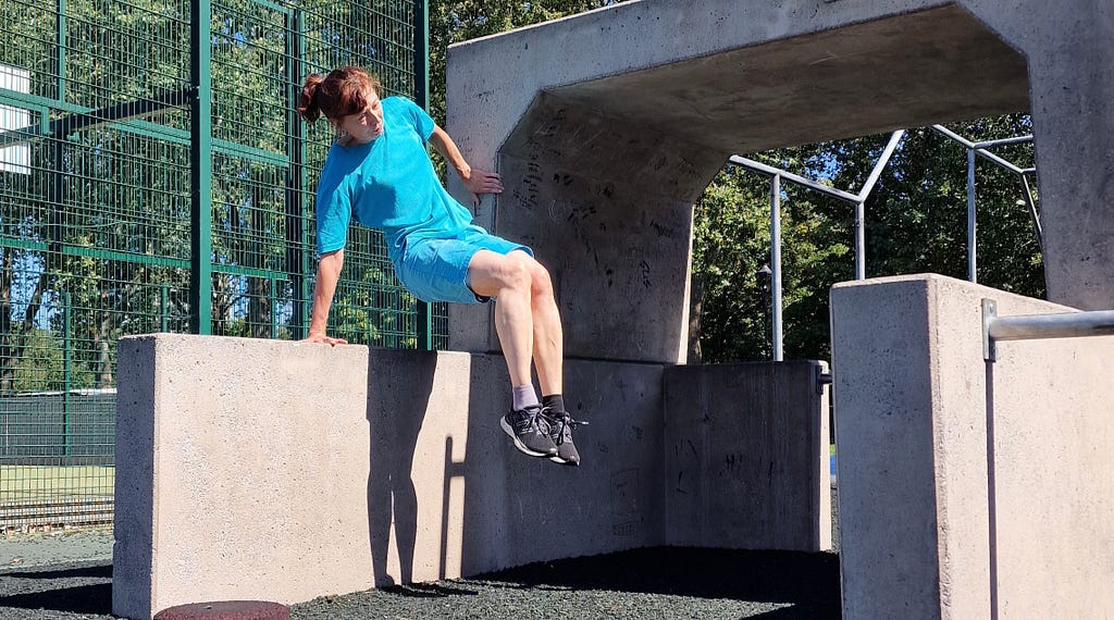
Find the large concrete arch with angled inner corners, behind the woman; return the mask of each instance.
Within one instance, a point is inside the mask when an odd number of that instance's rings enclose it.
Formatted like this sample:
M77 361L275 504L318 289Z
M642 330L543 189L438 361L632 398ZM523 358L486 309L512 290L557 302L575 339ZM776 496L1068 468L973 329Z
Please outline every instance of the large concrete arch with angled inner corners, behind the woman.
M453 46L448 106L574 356L684 360L691 204L730 155L1026 110L1049 298L1114 307L1107 0L632 0ZM453 348L498 348L486 312Z

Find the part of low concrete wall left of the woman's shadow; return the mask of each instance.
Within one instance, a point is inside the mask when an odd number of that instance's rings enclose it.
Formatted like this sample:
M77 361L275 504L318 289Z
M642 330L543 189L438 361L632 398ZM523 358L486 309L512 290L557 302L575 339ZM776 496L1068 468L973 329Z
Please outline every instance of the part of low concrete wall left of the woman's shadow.
M365 347L160 334L118 358L114 613L373 584Z

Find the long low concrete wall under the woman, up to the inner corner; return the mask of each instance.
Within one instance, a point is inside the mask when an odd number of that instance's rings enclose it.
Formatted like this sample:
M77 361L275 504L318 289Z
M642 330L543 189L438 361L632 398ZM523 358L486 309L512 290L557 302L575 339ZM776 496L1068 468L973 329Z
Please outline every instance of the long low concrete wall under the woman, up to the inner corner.
M501 357L159 334L121 339L119 368L118 616L664 538L661 366L567 364L579 469L507 441Z

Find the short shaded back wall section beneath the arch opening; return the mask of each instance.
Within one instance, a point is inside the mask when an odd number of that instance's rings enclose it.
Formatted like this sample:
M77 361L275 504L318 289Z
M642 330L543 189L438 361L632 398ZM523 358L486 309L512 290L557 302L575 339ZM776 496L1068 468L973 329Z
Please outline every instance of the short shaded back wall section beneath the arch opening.
M667 542L831 549L828 390L820 362L665 371Z

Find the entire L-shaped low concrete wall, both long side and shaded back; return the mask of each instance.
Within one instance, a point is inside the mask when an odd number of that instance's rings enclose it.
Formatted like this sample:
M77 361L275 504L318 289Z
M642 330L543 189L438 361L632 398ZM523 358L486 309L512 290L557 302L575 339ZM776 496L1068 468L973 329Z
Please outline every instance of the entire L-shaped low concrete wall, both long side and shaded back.
M498 356L123 338L113 611L662 544L827 549L819 368L568 362L577 469L499 430Z

